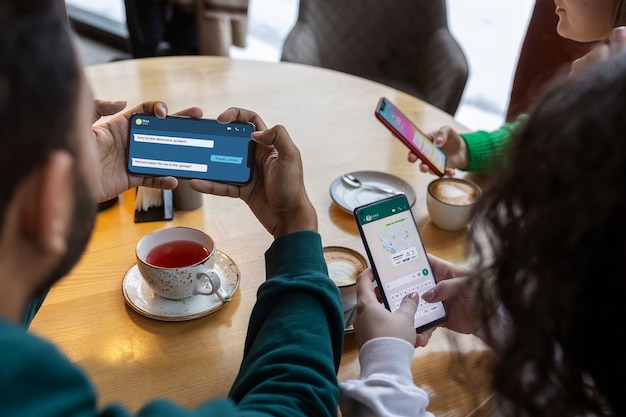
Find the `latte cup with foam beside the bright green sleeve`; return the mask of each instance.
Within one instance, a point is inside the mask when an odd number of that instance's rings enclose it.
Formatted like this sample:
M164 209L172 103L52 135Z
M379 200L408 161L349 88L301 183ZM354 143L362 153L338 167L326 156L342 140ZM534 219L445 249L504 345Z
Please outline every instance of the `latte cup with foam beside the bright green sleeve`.
M431 181L426 195L430 219L443 230L462 230L467 227L480 195L480 187L465 178L443 177Z

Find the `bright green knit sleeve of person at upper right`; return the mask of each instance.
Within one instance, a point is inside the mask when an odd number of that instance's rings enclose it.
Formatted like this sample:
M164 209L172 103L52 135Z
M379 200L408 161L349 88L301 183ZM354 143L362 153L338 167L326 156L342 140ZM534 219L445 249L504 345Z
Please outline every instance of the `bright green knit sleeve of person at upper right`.
M464 171L491 175L506 166L506 147L511 141L513 131L526 119L522 114L511 123L506 123L498 130L486 132L480 130L462 133L460 136L467 144L469 162Z

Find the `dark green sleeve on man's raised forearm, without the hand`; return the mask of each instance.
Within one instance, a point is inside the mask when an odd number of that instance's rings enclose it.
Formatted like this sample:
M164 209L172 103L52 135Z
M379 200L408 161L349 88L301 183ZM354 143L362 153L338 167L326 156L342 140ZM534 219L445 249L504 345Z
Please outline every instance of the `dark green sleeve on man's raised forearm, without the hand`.
M266 273L229 395L238 415L335 416L343 313L320 236L277 239L266 253Z

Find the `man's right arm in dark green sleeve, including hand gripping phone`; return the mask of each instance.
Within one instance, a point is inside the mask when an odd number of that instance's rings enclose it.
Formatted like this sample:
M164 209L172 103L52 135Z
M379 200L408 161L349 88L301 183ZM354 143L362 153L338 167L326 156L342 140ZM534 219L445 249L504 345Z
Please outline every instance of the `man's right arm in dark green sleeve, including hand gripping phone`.
M304 187L300 152L282 126L229 109L222 122L252 122L255 171L245 185L192 180L197 191L243 199L274 236L239 375L229 397L238 411L271 416L337 414L343 309L328 277L317 214Z

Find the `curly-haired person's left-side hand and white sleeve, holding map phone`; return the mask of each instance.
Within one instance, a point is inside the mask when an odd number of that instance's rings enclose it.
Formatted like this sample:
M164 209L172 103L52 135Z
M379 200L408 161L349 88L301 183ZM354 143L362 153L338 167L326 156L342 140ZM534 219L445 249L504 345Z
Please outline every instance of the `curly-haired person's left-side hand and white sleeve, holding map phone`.
M415 386L411 375L418 342L414 317L419 296L406 296L398 310L391 313L378 301L373 280L369 268L357 277L354 330L361 376L340 384L341 413L344 417L430 416L426 412L428 395Z

